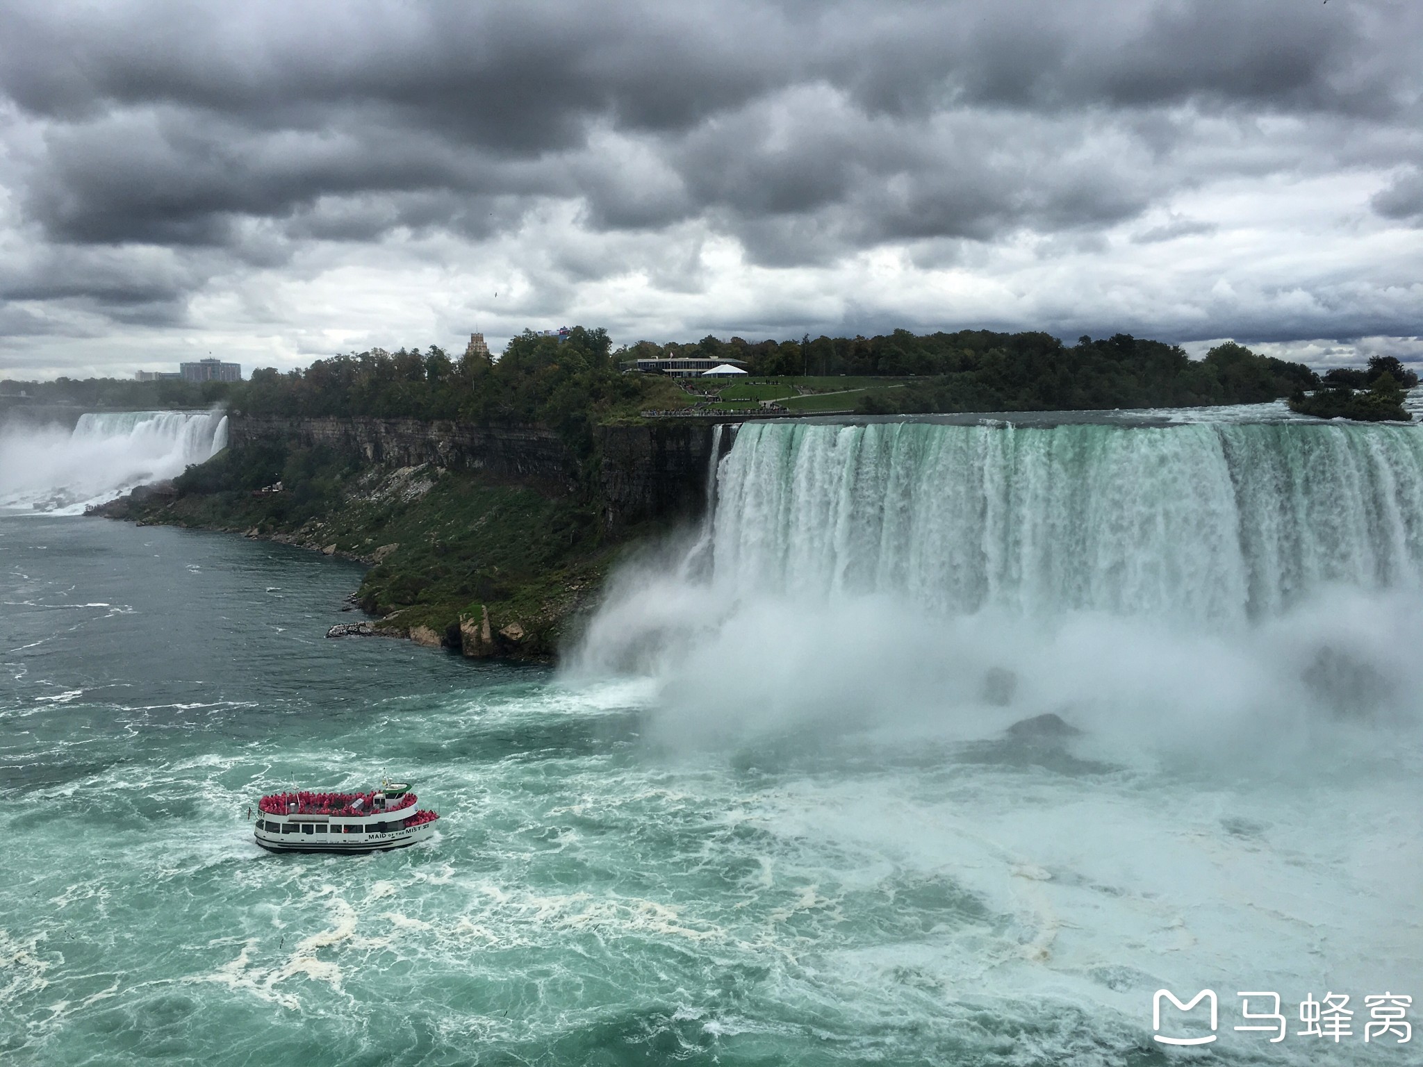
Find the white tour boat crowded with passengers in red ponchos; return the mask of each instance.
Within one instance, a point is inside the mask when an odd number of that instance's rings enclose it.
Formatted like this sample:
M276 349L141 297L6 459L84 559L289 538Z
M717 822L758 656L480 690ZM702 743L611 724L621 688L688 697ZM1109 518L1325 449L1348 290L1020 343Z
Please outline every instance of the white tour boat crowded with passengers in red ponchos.
M256 839L268 852L377 852L434 837L433 811L403 782L370 792L273 792L258 801Z

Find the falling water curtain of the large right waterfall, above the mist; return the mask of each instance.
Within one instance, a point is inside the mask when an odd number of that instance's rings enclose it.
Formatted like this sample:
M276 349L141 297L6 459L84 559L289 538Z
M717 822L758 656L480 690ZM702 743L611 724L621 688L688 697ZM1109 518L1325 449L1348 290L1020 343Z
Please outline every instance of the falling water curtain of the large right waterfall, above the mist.
M753 424L720 492L716 576L739 593L1237 623L1423 573L1405 427Z

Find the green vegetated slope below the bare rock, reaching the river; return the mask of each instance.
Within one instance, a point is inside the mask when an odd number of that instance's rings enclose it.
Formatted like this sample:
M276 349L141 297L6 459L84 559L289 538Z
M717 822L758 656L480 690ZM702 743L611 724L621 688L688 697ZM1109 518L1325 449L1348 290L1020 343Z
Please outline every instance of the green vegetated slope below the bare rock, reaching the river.
M552 657L613 552L575 495L464 471L369 467L324 448L228 450L189 467L174 489L108 512L366 561L356 600L380 617L379 633L472 656Z

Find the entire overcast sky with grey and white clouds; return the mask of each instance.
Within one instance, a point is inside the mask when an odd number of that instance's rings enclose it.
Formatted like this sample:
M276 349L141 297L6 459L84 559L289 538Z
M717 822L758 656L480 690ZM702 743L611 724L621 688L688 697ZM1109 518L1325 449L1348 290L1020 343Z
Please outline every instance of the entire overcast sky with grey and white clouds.
M0 7L0 374L961 327L1423 359L1423 3Z

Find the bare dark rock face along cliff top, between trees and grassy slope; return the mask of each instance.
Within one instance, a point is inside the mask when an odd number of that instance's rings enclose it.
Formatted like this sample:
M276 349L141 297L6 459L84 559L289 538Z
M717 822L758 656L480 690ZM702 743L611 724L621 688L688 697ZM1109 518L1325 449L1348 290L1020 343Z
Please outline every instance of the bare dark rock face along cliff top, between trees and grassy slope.
M283 441L327 445L371 464L434 464L499 479L576 492L578 460L549 430L478 427L414 418L282 418L231 414L232 445ZM710 424L616 425L598 430L602 521L615 536L660 518L696 518L704 505L713 440ZM730 434L720 435L721 451Z

